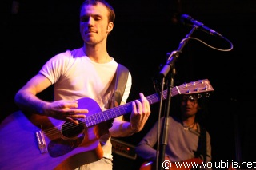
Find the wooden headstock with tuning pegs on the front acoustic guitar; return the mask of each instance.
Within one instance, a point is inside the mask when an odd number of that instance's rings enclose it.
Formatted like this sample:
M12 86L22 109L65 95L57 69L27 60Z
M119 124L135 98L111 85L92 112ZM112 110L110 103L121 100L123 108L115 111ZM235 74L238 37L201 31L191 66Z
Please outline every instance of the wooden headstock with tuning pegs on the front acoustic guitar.
M214 88L210 85L210 81L208 79L184 83L176 86L176 89L179 94L206 93L214 91Z

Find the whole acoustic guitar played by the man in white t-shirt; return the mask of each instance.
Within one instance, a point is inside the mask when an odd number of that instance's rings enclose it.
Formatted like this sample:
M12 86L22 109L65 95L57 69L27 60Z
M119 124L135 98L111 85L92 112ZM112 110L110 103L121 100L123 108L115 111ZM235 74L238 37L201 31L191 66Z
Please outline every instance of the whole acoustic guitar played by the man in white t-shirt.
M171 89L178 94L204 93L214 89L205 80ZM166 90L162 93L166 98ZM159 101L158 94L146 97L150 104ZM100 125L132 111L132 102L103 111L90 98L78 99L79 109L89 109L79 125L36 113L17 111L0 125L0 169L74 169L102 158L99 144Z

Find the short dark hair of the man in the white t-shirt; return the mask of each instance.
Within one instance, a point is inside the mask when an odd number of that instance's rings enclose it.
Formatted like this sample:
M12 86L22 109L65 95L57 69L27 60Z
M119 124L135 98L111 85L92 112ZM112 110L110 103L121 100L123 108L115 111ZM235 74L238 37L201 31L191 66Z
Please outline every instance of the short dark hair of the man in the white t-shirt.
M98 3L102 3L104 6L106 6L106 9L109 11L109 22L114 22L115 19L115 13L114 13L114 8L105 0L86 0L82 2L80 6L80 11L82 10L82 6L88 6L88 5L93 5L96 6Z

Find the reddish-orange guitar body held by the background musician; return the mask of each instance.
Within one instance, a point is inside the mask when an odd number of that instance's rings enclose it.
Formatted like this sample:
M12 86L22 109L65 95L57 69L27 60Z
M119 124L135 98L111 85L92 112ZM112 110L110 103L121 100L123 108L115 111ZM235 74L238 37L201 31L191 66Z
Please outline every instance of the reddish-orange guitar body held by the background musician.
M169 160L170 161L170 160ZM170 164L166 164L168 166L169 170L190 170L194 169L195 167L192 164L202 164L202 160L199 158L192 158L189 160L185 160L182 162L179 162L179 164L176 162L171 162ZM156 164L153 161L144 162L139 170L156 170Z

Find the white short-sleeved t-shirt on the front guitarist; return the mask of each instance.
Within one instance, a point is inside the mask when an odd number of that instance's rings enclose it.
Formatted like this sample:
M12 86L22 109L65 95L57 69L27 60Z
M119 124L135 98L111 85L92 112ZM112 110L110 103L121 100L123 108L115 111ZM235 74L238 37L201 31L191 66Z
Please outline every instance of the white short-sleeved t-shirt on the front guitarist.
M83 49L79 48L52 57L42 66L39 73L54 84L54 101L90 97L104 111L110 108L110 97L114 93L114 85L110 86L110 83L117 67L118 63L114 58L110 62L99 64L91 61ZM124 103L129 96L131 84L129 73L122 97ZM102 144L103 156L112 159L110 136L101 136L99 141Z

